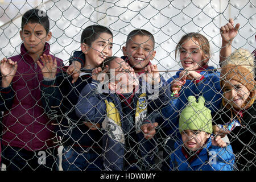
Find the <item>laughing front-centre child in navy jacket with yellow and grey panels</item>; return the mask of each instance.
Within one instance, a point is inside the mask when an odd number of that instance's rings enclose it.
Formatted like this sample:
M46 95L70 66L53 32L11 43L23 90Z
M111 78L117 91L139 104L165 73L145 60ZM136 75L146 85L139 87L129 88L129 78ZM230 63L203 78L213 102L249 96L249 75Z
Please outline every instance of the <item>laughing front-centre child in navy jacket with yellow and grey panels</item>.
M150 114L167 101L167 83L159 77L156 65L148 65L143 81L147 80L148 86L158 90L148 95L139 92L138 78L125 60L109 57L94 73L104 68L113 73L106 73L108 77L103 81L106 88L102 90L102 82L98 84L94 76L92 84L81 92L76 113L85 121L101 124L106 169L150 169L154 158L151 151L156 147L152 138L158 126ZM153 95L156 97L150 97Z

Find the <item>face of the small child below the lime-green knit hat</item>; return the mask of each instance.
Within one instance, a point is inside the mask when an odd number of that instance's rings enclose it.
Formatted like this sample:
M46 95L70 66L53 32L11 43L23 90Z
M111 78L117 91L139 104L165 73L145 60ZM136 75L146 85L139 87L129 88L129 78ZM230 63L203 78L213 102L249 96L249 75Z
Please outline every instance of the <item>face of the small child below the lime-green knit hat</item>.
M197 151L203 147L209 137L209 134L199 130L185 130L181 133L184 146L191 151Z

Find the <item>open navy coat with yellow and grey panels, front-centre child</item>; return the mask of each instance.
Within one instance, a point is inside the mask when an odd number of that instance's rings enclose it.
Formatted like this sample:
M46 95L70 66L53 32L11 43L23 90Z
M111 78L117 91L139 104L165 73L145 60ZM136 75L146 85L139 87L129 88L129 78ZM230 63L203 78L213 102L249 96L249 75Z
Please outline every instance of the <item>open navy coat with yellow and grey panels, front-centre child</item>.
M139 144L138 156L139 168L147 170L150 164L154 164L155 142L154 139L147 140L140 131L143 122L150 121L152 110L164 106L167 96L170 94L167 82L161 78L159 96L155 100L149 100L146 93L136 93L133 102L130 104L135 111L135 118L132 115L125 115L122 111L121 101L115 93L100 94L97 92L97 81L85 86L79 97L76 107L76 114L84 121L101 123L102 148L104 149L104 166L107 170L124 170L125 135L129 134L135 125ZM135 120L135 121L134 121ZM154 122L154 121L152 121Z

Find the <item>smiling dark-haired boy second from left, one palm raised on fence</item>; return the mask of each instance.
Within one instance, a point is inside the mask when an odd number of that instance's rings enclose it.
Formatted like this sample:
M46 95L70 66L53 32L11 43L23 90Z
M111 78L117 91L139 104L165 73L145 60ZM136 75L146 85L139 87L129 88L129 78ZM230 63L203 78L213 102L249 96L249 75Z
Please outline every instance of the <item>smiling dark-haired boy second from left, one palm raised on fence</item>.
M76 82L68 75L71 72L76 74L72 67L56 75L55 61L42 56L44 65L39 66L44 75L43 104L48 117L58 121L57 135L61 137L60 143L63 145L64 171L103 169L101 131L91 122L77 117L75 106L82 88L92 81L92 69L98 67L106 57L112 56L112 42L113 34L108 28L100 25L85 28L81 35L81 51L76 51L76 55L84 56L84 68L88 72L81 72ZM71 59L76 59L76 55Z

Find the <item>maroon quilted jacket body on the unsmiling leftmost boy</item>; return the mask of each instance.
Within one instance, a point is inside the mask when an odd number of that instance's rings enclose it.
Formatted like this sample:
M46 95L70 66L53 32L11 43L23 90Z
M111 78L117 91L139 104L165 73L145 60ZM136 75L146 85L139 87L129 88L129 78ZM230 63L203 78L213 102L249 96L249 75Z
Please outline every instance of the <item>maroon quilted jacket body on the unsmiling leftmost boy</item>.
M48 43L43 53L49 55ZM15 94L13 105L3 114L2 144L28 151L45 150L53 146L55 133L52 123L55 121L47 117L42 106L41 69L28 55L24 44L20 46L20 54L9 59L17 61L18 70L11 83ZM56 59L61 67L63 60Z

